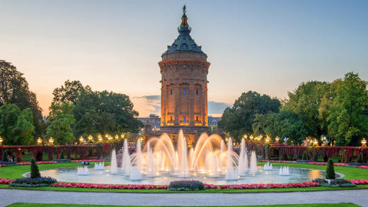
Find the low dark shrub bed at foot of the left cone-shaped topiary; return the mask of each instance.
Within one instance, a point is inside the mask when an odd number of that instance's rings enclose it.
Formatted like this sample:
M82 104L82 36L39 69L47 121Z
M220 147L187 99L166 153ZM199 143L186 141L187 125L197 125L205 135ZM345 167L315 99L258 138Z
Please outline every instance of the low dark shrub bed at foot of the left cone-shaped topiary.
M22 177L15 179L11 182L11 187L48 187L51 184L57 182L56 179L52 177Z

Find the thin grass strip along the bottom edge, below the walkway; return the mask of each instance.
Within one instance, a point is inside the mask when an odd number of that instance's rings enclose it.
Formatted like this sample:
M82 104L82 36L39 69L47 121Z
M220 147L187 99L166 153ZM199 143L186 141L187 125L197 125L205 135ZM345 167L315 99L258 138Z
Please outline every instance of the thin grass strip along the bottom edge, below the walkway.
M109 207L108 205L79 205L79 204L45 204L45 203L13 203L9 205L9 207L30 207L30 206L58 206L58 207L64 207L64 206L87 206L87 207ZM280 206L297 206L297 207L318 207L318 206L327 206L327 207L347 207L347 206L358 206L354 203L312 203L312 204L293 204L293 205L261 205L261 206L229 206L229 207L280 207ZM111 207L117 207L117 206L111 206ZM125 206L125 207L146 207L146 206ZM195 206L193 206L195 207ZM210 207L210 206L209 206Z

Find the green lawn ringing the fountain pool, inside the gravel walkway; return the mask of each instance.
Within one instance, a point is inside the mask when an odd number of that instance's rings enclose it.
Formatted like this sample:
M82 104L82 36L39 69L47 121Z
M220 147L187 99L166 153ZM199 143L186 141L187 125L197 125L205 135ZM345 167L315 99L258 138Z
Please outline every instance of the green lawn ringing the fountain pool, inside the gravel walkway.
M258 162L258 165L263 165L264 162ZM105 162L109 165L109 162ZM61 167L77 167L80 163L68 162L68 163L56 163L56 164L43 164L38 165L40 170L47 170ZM91 162L93 165L93 162ZM309 164L297 164L297 163L273 163L273 166L289 166L289 167L302 167L316 170L326 170L326 165L309 165ZM30 171L30 165L0 167L0 177L16 179L21 177L25 172ZM335 171L343 173L344 179L367 179L368 170L360 169L357 167L338 167L335 166ZM84 189L84 188L66 188L66 187L10 187L5 184L0 184L2 189L32 189L41 191L93 191L93 192L122 192L122 193L263 193L263 192L287 192L287 191L328 191L328 190L343 190L343 189L368 189L368 185L358 185L357 187L347 188L331 188L331 187L306 187L306 188L289 188L289 189L207 189L205 191L168 191L166 189Z

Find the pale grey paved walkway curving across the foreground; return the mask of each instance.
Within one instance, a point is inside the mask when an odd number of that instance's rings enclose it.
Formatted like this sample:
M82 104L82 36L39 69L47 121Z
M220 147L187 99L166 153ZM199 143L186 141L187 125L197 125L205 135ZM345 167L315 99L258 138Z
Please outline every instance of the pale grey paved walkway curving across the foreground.
M260 194L136 194L0 189L0 206L16 202L148 206L231 206L355 203L368 206L368 189Z

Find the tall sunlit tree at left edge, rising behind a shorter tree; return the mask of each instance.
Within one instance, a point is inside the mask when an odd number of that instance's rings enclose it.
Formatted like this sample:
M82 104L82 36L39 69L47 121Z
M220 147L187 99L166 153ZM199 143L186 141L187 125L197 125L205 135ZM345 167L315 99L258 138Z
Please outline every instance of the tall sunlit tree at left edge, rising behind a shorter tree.
M45 123L42 122L42 109L38 105L35 93L28 88L23 73L17 71L16 66L0 60L0 106L12 103L21 110L30 108L33 113L34 136L45 134Z

